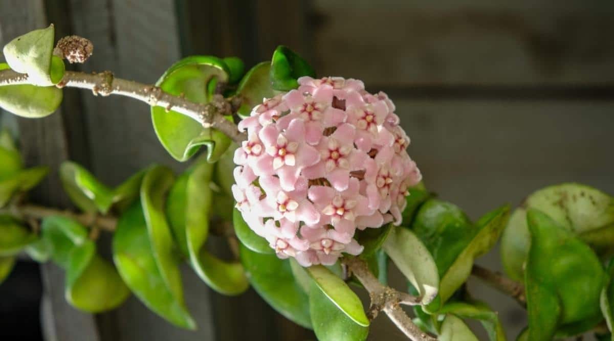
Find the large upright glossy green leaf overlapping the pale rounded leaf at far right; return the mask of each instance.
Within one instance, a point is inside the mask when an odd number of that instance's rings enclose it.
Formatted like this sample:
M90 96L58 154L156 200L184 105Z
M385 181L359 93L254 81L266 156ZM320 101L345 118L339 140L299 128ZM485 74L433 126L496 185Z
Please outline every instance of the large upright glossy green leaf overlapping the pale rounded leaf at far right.
M551 340L556 329L594 320L605 273L588 245L537 209L527 210L531 236L525 286L529 339ZM591 328L594 323L589 323Z

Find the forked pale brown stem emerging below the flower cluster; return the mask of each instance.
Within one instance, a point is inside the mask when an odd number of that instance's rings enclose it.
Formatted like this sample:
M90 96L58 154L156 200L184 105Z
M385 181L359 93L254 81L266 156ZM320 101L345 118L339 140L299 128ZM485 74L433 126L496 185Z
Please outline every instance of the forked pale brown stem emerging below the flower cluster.
M426 332L423 332L411 321L410 316L403 311L399 304L419 301L416 297L409 296L405 293L399 293L395 289L384 286L378 279L371 274L367 267L367 263L359 258L344 259L348 269L358 278L360 283L367 289L371 297L371 308L368 312L371 320L377 316L381 310L391 319L392 322L400 329L407 337L414 341L435 341L434 337Z

